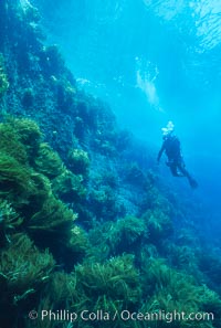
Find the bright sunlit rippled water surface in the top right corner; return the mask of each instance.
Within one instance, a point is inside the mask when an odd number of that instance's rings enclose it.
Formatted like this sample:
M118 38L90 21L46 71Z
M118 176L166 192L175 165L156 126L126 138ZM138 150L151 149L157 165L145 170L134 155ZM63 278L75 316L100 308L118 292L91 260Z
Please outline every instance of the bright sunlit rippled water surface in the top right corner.
M194 24L196 38L201 53L215 47L221 42L221 1L218 0L143 0L147 10L165 21L178 20L185 27L187 20ZM191 30L189 31L192 32ZM200 50L198 50L200 51Z

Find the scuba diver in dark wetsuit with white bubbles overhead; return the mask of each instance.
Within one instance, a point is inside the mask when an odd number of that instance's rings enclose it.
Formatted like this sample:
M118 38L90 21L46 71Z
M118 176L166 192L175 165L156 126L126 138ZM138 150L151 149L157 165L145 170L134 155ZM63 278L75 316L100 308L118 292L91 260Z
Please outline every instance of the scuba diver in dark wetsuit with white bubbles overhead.
M175 125L170 120L168 121L167 127L161 129L164 142L159 150L157 160L158 162L160 161L162 152L165 151L168 157L167 166L170 168L172 176L187 177L191 188L197 188L198 187L197 181L186 170L186 165L180 149L180 141L173 135L173 128L175 128Z

